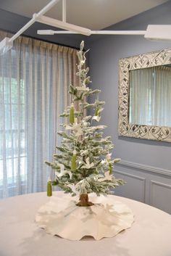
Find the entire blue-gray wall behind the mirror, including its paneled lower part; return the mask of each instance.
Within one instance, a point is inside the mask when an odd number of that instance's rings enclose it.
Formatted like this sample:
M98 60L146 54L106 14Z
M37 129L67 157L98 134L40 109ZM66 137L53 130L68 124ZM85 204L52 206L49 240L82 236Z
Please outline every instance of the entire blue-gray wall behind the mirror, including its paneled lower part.
M146 30L148 24L171 25L171 1L120 22L109 29ZM171 213L171 144L117 136L118 62L149 51L171 48L171 42L147 41L143 36L92 36L87 42L91 51L92 88L102 90L106 102L102 122L114 141L114 157L122 159L116 165L116 176L128 181L116 194L137 199ZM168 207L169 200L169 207Z

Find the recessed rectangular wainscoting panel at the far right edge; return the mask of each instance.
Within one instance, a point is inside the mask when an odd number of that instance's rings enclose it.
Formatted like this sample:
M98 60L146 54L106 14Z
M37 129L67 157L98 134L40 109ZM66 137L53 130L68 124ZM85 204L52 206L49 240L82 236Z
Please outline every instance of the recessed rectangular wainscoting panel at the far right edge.
M171 186L151 181L150 191L150 205L171 213Z

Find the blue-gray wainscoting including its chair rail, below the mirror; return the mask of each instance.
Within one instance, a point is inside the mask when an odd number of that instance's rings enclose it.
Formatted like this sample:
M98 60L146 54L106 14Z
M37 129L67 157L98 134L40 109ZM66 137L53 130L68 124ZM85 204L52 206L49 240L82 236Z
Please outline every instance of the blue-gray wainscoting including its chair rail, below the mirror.
M171 214L171 170L122 160L114 176L127 183L114 189L120 197L145 202Z

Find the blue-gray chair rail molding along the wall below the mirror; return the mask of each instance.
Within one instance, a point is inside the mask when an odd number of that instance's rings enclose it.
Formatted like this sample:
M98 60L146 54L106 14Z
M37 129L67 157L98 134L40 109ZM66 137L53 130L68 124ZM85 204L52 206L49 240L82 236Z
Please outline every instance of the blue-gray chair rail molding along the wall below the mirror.
M142 165L142 164L138 164L137 162L129 162L129 161L126 161L126 160L121 160L116 165L123 165L123 166L128 166L128 167L141 169L141 170L146 170L146 171L151 172L151 173L157 173L157 174L160 174L160 175L162 174L164 176L171 176L171 170L156 168L156 167L151 166L151 165Z

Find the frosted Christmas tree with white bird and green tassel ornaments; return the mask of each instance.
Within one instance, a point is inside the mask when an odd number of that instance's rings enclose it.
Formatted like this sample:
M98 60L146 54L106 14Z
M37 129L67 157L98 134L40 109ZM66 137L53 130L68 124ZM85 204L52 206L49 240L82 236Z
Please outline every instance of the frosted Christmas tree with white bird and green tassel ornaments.
M58 154L54 154L54 162L46 162L54 169L56 178L48 182L47 195L51 196L51 185L59 186L72 196L79 195L78 206L93 205L88 201L89 193L110 194L112 190L125 182L113 176L114 162L112 159L114 145L111 137L103 138L103 130L107 126L97 125L105 102L99 100L100 90L88 87L91 83L86 66L86 53L83 51L84 42L78 51L78 77L80 86L70 85L72 103L60 115L67 120L59 131L62 137L61 146L57 146ZM96 100L88 103L88 98L95 95ZM85 115L88 110L93 115Z

